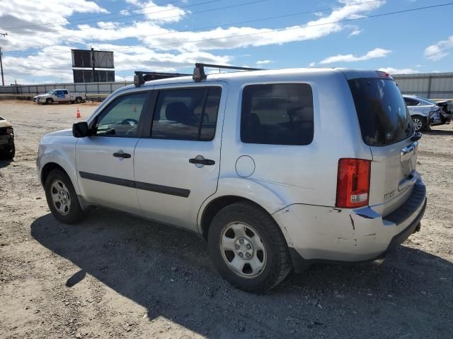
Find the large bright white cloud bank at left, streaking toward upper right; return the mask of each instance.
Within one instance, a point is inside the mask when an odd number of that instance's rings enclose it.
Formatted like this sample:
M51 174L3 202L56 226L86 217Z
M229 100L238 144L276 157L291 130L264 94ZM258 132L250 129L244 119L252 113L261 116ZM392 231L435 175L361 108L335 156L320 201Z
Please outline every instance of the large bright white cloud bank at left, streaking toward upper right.
M131 73L132 70L139 68L177 71L191 66L195 61L228 64L234 58L219 51L317 40L351 27L333 22L363 16L382 6L385 0L357 6L354 4L363 0L339 2L353 6L339 7L330 13L324 11L324 16L301 25L283 26L274 30L231 26L193 32L167 27L192 15L192 12L184 8L186 4L184 1L181 1L178 7L175 4L159 6L150 0L127 0L128 6L121 14L113 13L105 20L99 18L101 22L98 23L74 21L79 25L69 25L71 16L76 12L108 13L108 11L88 0L0 1L0 31L8 28L8 42L2 45L5 50L6 76L30 80L37 77L59 80L63 77L64 81L69 81L72 74L69 49L91 46L96 49L113 50L117 71ZM138 9L142 7L149 8ZM120 9L117 8L117 11ZM198 9L194 9L194 13L195 11ZM137 13L144 16L136 16ZM130 16L133 16L133 20L128 18ZM168 18L169 16L172 18ZM199 16L194 15L193 18ZM14 29L14 26L28 27ZM137 44L131 42L132 39L138 40ZM127 45L115 44L115 40L127 41L125 42ZM28 49L30 46L39 47ZM260 61L264 64L264 61L270 60Z

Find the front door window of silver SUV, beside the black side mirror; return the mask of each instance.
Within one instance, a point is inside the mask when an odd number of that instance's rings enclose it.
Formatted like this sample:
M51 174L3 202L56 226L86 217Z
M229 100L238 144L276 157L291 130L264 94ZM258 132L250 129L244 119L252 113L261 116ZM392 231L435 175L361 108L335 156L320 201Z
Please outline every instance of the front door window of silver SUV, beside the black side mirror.
M123 95L106 107L98 116L95 125L96 136L137 136L140 113L147 92Z

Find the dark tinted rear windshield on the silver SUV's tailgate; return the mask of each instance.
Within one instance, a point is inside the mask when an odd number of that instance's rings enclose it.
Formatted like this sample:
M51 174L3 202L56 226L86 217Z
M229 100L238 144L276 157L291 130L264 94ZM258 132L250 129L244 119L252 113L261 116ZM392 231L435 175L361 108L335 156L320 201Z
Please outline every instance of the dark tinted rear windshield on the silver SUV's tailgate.
M412 136L411 116L393 80L361 78L348 83L367 145L390 145Z

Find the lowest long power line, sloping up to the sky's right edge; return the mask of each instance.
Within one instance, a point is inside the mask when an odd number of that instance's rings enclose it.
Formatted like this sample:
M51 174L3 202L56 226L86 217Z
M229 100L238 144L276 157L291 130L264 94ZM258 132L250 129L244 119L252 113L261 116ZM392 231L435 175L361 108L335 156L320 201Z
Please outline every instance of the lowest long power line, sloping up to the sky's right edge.
M346 22L351 22L351 21L357 21L357 20L365 20L369 18L379 18L382 16L391 16L395 14L401 14L401 13L408 13L408 12L413 12L413 11L421 11L424 9L429 9L429 8L440 8L443 6L451 6L453 5L453 2L449 2L446 4L438 4L438 5L431 5L431 6L423 6L423 7L418 7L418 8L409 8L401 11L394 11L394 12L387 12L387 13L381 13L381 14L374 14L372 16L362 16L360 18L351 18L351 19L343 19L343 20L337 20L337 21L332 21L330 23L317 23L314 25L309 25L309 26L299 26L299 27L291 27L291 28L281 28L281 29L275 29L275 30L267 30L266 32L254 32L254 33L247 33L247 34L241 34L241 35L230 35L228 37L213 37L210 39L201 39L201 40L191 40L191 41L185 41L185 42L169 42L166 44L147 44L143 46L133 46L133 47L120 47L120 48L113 48L110 50L121 50L121 49L126 49L126 48L137 48L137 47L162 47L162 46L169 46L173 44L187 44L187 43L193 43L193 42L205 42L205 41L213 41L213 40L222 40L222 39L231 39L234 37L249 37L253 35L262 35L262 34L269 34L273 32L285 32L289 30L299 30L303 28L309 28L309 27L316 27L316 26L322 26L322 25L333 25L336 23L346 23ZM55 54L40 54L40 57L45 57L45 56L52 56L52 55L60 55L60 54L66 54L67 52L59 52Z

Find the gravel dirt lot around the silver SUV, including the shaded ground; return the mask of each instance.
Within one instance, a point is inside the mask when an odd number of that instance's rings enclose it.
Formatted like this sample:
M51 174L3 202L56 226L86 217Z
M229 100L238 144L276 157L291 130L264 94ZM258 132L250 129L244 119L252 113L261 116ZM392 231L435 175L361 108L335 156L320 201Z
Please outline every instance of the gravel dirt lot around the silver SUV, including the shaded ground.
M0 101L17 145L0 162L1 338L453 338L453 125L420 141L428 209L383 266L316 265L252 295L188 232L104 209L76 226L52 218L38 143L75 110Z

